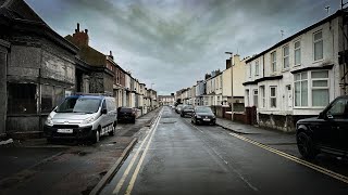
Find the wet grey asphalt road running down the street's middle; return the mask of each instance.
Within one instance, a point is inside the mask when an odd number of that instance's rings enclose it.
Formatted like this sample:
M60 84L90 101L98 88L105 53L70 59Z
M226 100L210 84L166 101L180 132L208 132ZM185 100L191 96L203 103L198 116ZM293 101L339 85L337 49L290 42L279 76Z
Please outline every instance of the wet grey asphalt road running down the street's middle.
M348 194L348 183L164 107L101 194Z

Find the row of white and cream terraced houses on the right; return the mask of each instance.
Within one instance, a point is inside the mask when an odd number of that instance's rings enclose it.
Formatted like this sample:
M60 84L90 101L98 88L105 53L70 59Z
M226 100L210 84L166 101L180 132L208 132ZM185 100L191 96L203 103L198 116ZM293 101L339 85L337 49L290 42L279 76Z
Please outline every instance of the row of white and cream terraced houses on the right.
M347 10L339 10L252 57L240 62L237 57L232 72L226 67L207 75L177 91L176 99L212 106L222 117L231 114L233 120L294 131L299 119L318 116L348 92L346 17ZM239 64L240 69L234 70ZM228 73L243 78L231 78ZM240 110L237 103L245 108ZM219 114L216 106L228 108Z

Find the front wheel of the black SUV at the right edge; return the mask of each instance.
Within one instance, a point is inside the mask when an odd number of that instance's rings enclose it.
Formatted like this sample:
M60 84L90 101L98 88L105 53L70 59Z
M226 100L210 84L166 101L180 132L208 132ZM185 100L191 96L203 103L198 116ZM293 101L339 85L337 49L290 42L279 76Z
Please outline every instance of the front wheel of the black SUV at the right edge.
M314 148L312 138L307 135L304 132L300 132L297 134L296 140L297 147L301 156L308 160L314 159L318 152Z

